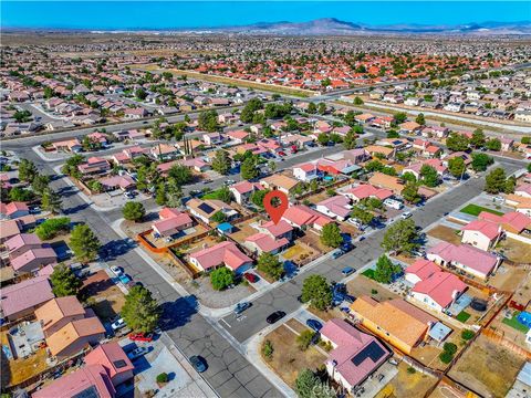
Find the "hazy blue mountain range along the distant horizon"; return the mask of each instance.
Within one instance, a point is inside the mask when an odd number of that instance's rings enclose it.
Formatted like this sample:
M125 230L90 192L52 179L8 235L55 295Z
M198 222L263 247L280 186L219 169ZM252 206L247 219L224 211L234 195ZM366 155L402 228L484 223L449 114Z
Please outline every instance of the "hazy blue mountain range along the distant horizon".
M205 29L201 29L205 31ZM449 35L521 35L531 34L531 21L482 22L459 25L389 24L366 25L322 18L308 22L258 22L249 25L211 28L208 31L247 34L285 35L358 35L358 34L449 34Z

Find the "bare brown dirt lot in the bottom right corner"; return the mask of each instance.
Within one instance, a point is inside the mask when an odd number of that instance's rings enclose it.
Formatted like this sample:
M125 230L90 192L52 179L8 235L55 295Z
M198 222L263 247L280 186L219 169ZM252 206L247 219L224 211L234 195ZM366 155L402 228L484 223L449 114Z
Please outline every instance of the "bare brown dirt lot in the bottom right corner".
M480 336L450 370L483 397L504 397L525 359Z

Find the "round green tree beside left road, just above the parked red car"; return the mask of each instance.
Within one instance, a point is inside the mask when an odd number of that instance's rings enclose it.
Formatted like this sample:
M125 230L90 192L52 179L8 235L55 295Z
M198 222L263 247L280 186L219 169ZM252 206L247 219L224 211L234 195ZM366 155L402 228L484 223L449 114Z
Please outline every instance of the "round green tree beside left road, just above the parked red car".
M133 331L148 333L157 327L160 307L152 297L152 292L144 286L135 285L125 296L121 315Z

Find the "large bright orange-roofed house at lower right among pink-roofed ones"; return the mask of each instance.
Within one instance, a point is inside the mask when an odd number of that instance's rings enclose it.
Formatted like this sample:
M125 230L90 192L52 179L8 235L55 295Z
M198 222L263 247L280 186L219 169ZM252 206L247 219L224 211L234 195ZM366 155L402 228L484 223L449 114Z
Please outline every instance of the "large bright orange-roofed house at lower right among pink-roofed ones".
M403 298L379 303L369 296L361 296L352 303L351 314L368 331L405 354L410 354L427 338L429 328L437 323L437 318Z

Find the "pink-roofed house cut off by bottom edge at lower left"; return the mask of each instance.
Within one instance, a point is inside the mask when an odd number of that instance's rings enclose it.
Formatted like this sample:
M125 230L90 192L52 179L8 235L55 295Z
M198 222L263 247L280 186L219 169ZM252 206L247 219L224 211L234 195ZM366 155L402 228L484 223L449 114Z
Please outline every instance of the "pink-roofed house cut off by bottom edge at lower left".
M114 398L116 389L103 365L88 365L60 377L31 395L32 398Z

